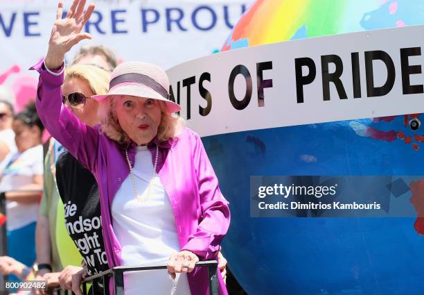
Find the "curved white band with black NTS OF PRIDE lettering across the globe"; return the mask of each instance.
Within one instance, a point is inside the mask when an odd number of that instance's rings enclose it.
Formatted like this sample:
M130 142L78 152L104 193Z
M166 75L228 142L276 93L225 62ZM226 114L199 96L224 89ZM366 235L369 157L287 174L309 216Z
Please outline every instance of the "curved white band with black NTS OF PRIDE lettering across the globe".
M202 136L424 112L424 26L279 42L168 70Z

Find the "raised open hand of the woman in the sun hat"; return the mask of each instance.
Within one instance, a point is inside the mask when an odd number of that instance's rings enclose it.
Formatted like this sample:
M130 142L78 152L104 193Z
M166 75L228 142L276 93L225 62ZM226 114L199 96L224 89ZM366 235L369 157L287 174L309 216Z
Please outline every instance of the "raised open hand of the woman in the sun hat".
M63 2L59 1L56 21L51 29L48 51L44 58L48 69L58 69L62 65L65 53L75 44L93 38L89 33L81 33L95 7L94 3L91 3L84 12L85 1L74 0L64 19L62 19Z

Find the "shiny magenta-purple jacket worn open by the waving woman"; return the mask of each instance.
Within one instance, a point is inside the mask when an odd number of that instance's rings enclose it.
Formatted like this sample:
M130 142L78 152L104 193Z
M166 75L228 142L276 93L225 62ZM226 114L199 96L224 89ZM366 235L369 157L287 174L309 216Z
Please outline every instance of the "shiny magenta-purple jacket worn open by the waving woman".
M39 72L36 106L44 126L96 177L107 261L109 267L120 266L121 245L112 228L111 208L116 192L130 173L125 149L134 163L136 144L118 145L100 133L98 126L91 128L83 124L62 106L63 74L49 74L42 61L30 69ZM152 162L156 145L159 145L157 174L173 208L181 249L197 254L200 260L215 259L229 227L230 212L202 140L188 128L168 142L154 139L148 144ZM226 295L227 289L218 273L220 294ZM188 273L188 283L192 295L209 294L207 269Z

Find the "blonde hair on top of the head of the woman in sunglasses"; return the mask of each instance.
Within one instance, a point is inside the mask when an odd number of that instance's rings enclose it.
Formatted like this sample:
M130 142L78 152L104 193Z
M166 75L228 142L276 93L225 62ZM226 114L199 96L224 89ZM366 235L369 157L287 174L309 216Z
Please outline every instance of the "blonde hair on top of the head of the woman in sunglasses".
M65 81L80 78L86 81L94 94L106 94L109 90L110 74L94 65L72 65L65 71Z

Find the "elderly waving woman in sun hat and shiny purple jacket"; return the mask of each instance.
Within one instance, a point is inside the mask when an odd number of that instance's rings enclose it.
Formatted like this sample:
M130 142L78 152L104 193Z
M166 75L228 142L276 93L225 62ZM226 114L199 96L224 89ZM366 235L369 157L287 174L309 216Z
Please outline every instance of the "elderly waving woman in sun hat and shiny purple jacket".
M222 196L200 137L171 115L169 82L159 67L125 62L112 72L101 101L103 120L94 128L62 107L64 54L80 40L94 5L73 1L67 17L53 25L39 71L37 110L46 128L95 176L110 267L168 263L182 273L171 282L161 271L129 273L125 294L207 294L206 269L198 260L216 258L229 226ZM227 294L218 275L220 294Z

